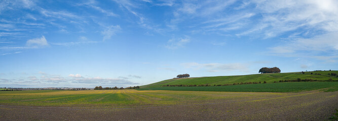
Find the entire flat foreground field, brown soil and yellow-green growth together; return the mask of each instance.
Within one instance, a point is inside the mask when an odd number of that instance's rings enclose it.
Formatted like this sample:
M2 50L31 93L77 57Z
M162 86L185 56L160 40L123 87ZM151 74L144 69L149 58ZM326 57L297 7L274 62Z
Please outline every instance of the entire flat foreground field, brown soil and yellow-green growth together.
M0 120L326 120L338 92L3 91Z

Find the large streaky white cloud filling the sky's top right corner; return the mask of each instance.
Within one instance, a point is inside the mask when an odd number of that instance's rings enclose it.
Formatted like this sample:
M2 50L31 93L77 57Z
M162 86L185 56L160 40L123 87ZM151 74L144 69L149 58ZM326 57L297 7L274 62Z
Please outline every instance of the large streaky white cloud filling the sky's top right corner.
M266 38L275 37L285 32L298 29L338 30L337 1L252 1L261 20L251 29L237 34L250 35L262 33Z

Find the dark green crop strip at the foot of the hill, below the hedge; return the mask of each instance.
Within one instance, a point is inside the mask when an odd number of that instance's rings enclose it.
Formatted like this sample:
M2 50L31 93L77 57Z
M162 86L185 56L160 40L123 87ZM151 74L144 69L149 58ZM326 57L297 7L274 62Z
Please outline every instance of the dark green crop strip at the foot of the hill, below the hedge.
M173 91L229 91L229 92L297 92L329 88L329 91L338 90L338 82L284 82L267 84L247 84L230 86L206 87L154 87L137 90L173 90Z

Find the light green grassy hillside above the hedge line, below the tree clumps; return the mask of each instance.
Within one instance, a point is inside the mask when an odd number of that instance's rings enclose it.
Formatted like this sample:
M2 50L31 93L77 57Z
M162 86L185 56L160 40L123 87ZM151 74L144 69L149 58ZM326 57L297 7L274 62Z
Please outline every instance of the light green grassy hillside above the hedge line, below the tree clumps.
M338 74L338 71L314 71L314 72L305 72L305 74L302 74L301 72L294 72L294 73L277 73L277 74L254 74L242 76L180 78L180 79L169 79L153 84L143 85L140 86L140 88L154 88L161 87L162 85L200 85L200 84L223 85L241 82L244 83L244 82L264 82L264 81L266 81L267 83L273 83L274 81L278 82L279 80L296 80L298 78L313 79L320 81L328 81L329 79L332 79L338 81L337 77L330 76L328 75L329 73Z

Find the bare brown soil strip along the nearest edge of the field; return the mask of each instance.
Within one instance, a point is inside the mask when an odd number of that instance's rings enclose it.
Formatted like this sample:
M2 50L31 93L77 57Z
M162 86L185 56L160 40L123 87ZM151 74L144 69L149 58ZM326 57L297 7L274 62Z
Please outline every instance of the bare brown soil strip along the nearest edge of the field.
M327 120L335 108L338 109L338 92L307 91L259 99L150 107L1 105L0 120Z

